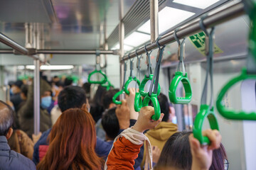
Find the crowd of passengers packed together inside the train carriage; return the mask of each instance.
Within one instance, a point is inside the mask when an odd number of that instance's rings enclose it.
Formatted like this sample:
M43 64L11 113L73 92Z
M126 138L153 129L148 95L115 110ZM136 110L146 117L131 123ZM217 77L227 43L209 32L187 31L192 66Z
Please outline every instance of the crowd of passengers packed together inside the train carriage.
M11 100L0 101L0 169L228 169L220 133L203 131L210 145L200 145L191 131L178 132L164 94L152 120L151 104L134 111L135 89L117 106L118 89L98 86L92 98L89 83L41 75L41 132L33 134L33 80L9 85Z

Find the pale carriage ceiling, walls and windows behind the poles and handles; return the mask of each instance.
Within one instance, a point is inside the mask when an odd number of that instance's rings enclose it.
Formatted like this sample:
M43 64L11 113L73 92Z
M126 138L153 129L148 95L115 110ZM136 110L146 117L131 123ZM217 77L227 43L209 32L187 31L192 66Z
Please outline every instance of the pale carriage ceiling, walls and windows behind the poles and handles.
M122 0L120 0L122 1ZM100 55L100 65L115 88L122 88L122 67L119 54L119 22L124 21L124 55L143 47L150 42L149 1L117 0L13 0L1 1L0 32L19 45L36 50L59 50L55 54L38 54L43 61L41 71L50 79L53 76L75 77L73 84L87 82L88 75L96 67L97 54L66 54L68 50L108 50L113 54ZM199 1L199 0L198 0ZM186 26L191 21L208 13L224 10L240 1L210 0L198 4L185 0L159 0L159 35L171 33L171 30ZM198 5L198 6L197 6ZM123 13L120 15L120 8ZM234 14L235 15L235 14ZM244 13L238 17L215 26L215 44L213 56L213 98L233 77L247 67L248 36L250 18ZM32 30L32 31L31 31ZM196 114L200 110L203 84L206 79L205 37L203 32L189 35L185 40L184 63L193 96L188 104L174 104L178 130L192 130ZM61 54L63 50L63 54ZM23 79L32 81L34 60L27 55L12 52L9 45L0 43L0 98L6 101L9 96L9 81ZM8 53L7 53L8 52ZM159 84L161 93L169 95L169 86L175 76L178 65L178 43L166 44L161 62ZM151 64L156 65L157 49L151 52ZM123 57L123 56L122 56ZM121 58L122 59L122 58ZM46 64L47 63L47 64ZM127 72L130 72L127 60ZM137 58L134 57L134 74L143 79L146 74L146 55L142 55L141 69L137 70ZM102 79L97 76L94 79ZM135 83L129 87L135 87ZM146 84L149 89L149 84ZM97 89L93 85L91 94ZM208 101L210 93L208 88ZM181 82L177 95L184 96ZM92 95L93 96L93 95ZM223 98L225 107L242 111L256 111L256 81L248 79L233 86ZM228 154L230 169L255 169L256 123L252 120L230 120L223 118L217 109L223 145ZM203 129L210 128L206 120Z

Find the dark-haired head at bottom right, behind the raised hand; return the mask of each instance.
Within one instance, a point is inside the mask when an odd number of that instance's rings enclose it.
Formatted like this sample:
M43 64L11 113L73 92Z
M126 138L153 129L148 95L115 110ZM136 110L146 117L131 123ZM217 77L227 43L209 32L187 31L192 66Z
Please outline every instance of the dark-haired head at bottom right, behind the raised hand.
M191 169L192 155L188 137L192 132L176 132L167 140L156 164L156 170ZM213 150L213 163L210 170L224 169L224 160L227 159L225 148L220 144L219 149Z

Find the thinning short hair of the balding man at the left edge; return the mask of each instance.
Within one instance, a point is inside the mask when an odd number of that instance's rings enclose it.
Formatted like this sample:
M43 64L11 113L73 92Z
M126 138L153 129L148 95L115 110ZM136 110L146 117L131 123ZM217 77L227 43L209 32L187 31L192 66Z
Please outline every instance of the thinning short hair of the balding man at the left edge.
M0 136L6 136L11 126L14 124L14 111L11 106L0 101L1 104L8 108L8 111L0 111Z

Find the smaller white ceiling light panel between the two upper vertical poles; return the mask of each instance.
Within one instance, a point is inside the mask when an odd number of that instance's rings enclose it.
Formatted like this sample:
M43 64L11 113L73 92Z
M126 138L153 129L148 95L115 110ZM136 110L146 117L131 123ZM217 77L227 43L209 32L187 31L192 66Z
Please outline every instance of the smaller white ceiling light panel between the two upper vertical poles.
M148 40L150 40L150 35L145 33L134 32L130 34L127 38L124 38L124 45L137 47Z

